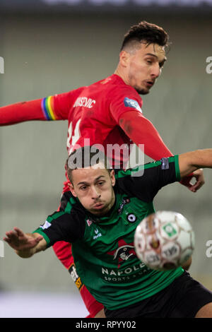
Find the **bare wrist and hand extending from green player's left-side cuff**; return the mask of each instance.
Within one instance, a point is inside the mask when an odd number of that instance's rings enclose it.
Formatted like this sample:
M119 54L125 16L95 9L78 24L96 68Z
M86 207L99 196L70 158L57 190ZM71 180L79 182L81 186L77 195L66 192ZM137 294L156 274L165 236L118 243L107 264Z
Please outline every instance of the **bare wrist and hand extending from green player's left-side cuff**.
M38 233L24 233L18 227L6 232L4 241L22 258L29 258L37 252L47 249L47 242L42 235Z

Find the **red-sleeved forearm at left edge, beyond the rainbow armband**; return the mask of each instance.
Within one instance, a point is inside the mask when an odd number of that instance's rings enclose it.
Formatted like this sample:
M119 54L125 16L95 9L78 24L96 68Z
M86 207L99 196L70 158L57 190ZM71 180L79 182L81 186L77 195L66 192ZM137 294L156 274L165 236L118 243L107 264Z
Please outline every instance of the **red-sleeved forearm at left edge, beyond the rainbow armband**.
M46 120L42 111L42 99L0 107L0 126L30 120Z

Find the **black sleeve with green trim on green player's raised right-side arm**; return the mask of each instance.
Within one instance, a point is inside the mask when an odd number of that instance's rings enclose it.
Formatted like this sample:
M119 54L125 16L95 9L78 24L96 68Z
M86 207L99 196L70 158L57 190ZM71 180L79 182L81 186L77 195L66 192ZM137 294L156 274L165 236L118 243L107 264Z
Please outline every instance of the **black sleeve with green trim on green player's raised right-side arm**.
M116 177L120 189L150 203L163 186L180 181L178 155L119 171Z

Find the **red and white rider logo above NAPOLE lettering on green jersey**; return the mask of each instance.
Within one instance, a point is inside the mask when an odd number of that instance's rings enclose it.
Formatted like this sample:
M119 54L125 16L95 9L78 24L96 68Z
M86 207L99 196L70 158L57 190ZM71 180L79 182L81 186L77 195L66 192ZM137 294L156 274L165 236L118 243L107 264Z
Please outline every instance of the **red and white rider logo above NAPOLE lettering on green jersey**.
M117 259L118 268L127 261L129 258L135 258L136 252L134 251L134 243L127 244L124 239L119 239L118 248L107 252L108 255L112 255L113 259Z

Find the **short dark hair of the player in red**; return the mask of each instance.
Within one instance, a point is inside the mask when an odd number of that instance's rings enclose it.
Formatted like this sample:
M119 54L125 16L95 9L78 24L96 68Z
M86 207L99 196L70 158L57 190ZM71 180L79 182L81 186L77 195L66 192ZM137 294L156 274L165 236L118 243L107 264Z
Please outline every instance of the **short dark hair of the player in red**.
M121 51L132 42L143 42L147 45L158 44L162 47L168 47L170 45L168 41L169 35L163 28L143 20L131 26L129 31L126 32Z

